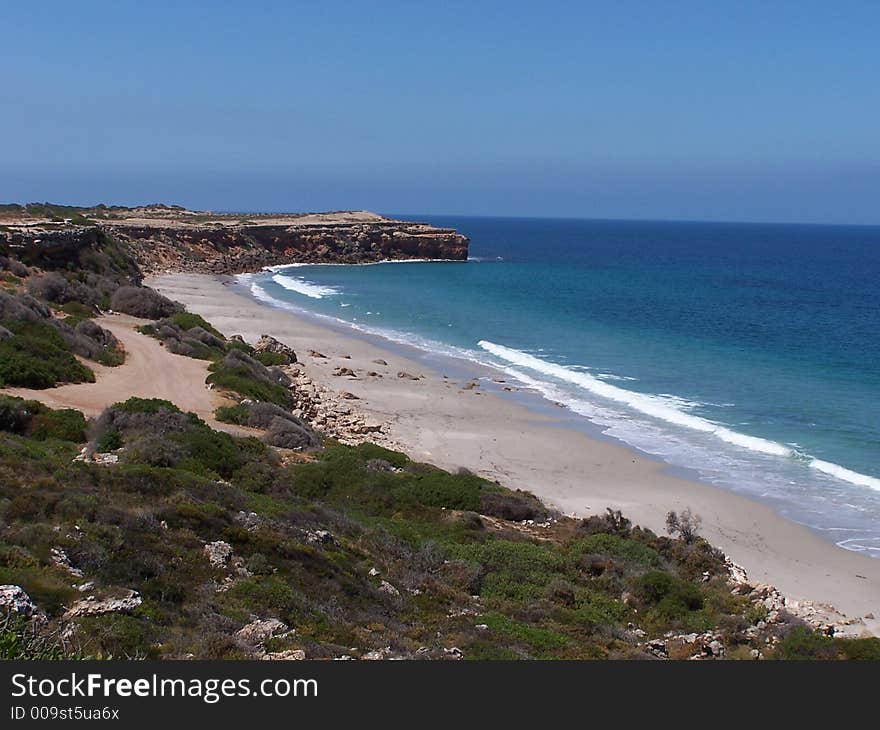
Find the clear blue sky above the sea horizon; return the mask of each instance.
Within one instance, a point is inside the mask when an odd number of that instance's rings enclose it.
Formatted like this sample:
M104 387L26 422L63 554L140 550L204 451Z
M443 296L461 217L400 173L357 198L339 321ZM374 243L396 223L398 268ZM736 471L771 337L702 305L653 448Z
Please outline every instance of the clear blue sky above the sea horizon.
M880 224L880 3L3 3L0 201Z

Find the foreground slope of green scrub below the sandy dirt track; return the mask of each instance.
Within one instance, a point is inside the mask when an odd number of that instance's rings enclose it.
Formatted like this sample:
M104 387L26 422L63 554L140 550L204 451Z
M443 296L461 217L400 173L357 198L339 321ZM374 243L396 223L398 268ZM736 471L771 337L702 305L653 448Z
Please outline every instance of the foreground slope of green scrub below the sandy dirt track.
M527 493L371 444L296 456L136 398L88 428L76 412L4 398L0 429L0 584L48 614L46 637L67 628L68 653L635 658L645 633L712 629L735 656L761 619L699 538L619 513L560 518ZM74 461L83 446L118 459ZM231 555L212 562L217 541ZM64 619L86 581L99 598L134 590L143 602ZM295 632L254 646L238 631L255 618ZM0 627L2 651L62 651L24 636ZM784 658L878 651L795 621L775 647Z

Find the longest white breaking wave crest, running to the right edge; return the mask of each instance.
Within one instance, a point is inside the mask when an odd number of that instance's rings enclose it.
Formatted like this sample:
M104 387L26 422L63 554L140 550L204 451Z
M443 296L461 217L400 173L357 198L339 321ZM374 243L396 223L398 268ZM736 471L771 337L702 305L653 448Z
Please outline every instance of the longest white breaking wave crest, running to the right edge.
M674 401L644 393L636 393L631 390L626 390L625 388L619 388L616 385L599 380L589 373L572 370L564 365L547 362L546 360L541 360L540 358L526 352L514 350L513 348L505 347L504 345L499 345L488 340L480 340L477 344L492 355L495 355L502 360L506 360L509 363L572 383L602 398L617 403L623 403L633 410L651 416L652 418L666 421L667 423L672 423L676 426L689 428L694 431L711 434L721 441L761 454L786 458L803 458L802 454L799 454L794 449L783 444L759 438L757 436L749 436L748 434L734 431L725 426L720 426L717 423L713 423L700 416L686 413L679 408L676 408L673 405ZM876 477L861 474L838 464L833 464L812 457L807 457L806 461L811 468L827 474L828 476L850 482L851 484L857 484L859 486L869 487L880 491L880 479L877 479Z

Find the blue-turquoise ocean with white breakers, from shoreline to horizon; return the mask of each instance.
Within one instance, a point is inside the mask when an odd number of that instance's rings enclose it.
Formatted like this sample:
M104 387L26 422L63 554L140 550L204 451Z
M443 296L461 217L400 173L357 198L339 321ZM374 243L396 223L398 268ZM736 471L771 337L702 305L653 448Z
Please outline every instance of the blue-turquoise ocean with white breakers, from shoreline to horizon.
M880 227L417 219L469 236L470 260L245 283L495 365L608 437L880 557Z

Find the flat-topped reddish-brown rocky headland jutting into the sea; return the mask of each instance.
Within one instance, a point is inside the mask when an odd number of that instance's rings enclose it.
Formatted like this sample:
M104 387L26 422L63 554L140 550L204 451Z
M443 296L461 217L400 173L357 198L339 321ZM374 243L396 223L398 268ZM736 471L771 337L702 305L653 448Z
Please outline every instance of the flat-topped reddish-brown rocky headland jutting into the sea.
M145 275L240 274L292 263L464 261L468 254L468 238L451 228L368 211L215 214L167 205L0 207L0 249L16 251L23 261L78 261L107 236L126 244Z

